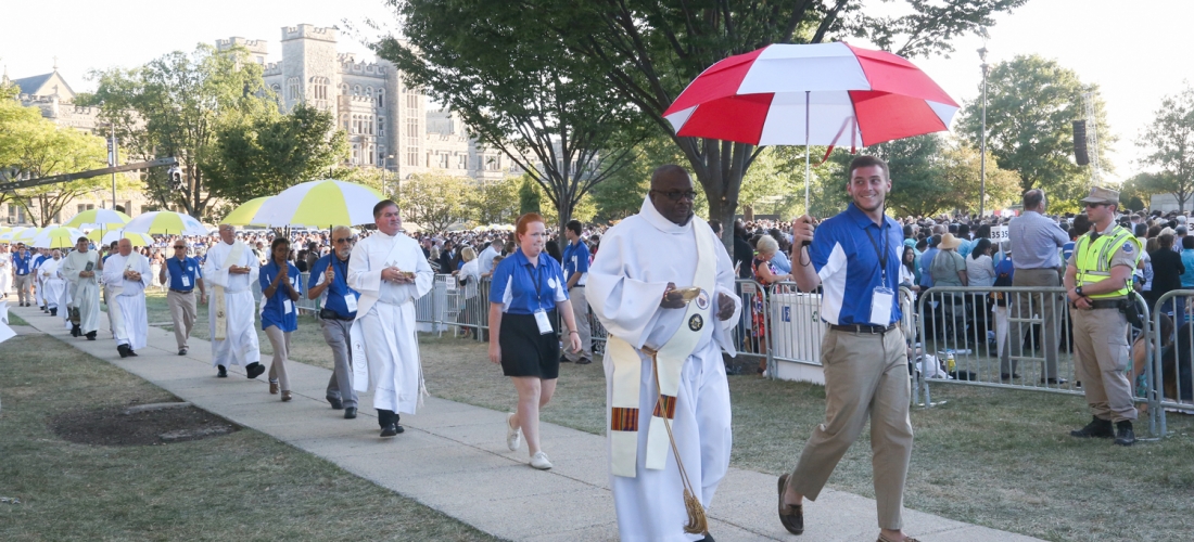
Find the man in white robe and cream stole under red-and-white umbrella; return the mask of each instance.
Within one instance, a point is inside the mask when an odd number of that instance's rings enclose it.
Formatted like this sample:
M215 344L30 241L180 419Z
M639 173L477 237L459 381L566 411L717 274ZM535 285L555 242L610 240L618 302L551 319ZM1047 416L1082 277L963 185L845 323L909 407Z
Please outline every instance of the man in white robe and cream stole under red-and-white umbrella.
M730 255L693 214L694 198L683 168L656 169L639 213L605 232L589 268L589 305L609 331L607 441L622 541L704 540L684 492L700 500L690 506L708 507L730 467L721 353L737 354L731 331L741 301Z

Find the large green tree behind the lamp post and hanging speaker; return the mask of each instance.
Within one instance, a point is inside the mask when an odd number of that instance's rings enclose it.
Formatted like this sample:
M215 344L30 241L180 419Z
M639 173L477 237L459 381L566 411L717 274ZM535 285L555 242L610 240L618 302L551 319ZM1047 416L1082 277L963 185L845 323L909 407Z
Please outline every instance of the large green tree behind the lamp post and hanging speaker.
M986 145L999 168L1020 176L1021 189L1044 188L1053 201L1085 194L1089 168L1073 161L1071 124L1085 117L1084 93L1094 99L1096 123L1087 130L1097 130L1098 163L1104 172L1113 172L1107 151L1115 137L1107 126L1097 86L1083 83L1073 70L1038 55L1017 56L991 69ZM981 114L980 100L962 108L960 131L975 148L983 132Z

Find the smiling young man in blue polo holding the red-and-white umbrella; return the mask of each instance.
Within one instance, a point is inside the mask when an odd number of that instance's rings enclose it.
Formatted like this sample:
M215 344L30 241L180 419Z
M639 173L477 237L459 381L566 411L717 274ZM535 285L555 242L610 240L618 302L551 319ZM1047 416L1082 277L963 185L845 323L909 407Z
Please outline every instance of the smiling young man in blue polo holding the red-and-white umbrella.
M795 471L780 476L780 522L793 534L804 532L802 499L817 498L870 418L879 541L912 541L900 531L912 425L896 300L904 236L899 223L884 214L891 187L887 163L860 156L850 163L845 191L854 201L844 212L817 228L816 237L807 214L792 223L792 273L801 291L823 287L820 313L830 324L820 350L826 418Z

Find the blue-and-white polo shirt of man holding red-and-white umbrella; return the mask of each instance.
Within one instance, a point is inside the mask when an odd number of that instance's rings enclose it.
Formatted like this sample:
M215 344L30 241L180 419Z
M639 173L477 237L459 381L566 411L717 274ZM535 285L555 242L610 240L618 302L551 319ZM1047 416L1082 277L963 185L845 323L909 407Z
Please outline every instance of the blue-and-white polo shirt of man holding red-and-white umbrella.
M872 293L881 284L881 270L887 270L884 286L898 293L899 256L904 250L904 230L899 223L884 216L880 229L853 203L845 211L817 228L808 257L820 275L821 318L830 324L870 325ZM882 268L879 255L884 255ZM900 319L899 298L892 298L892 313L887 324Z

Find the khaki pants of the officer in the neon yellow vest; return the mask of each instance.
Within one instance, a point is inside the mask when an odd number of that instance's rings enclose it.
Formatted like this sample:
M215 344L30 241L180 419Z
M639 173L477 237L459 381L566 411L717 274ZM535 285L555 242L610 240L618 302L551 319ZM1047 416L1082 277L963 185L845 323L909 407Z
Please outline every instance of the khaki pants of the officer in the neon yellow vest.
M1127 317L1116 309L1075 309L1073 365L1090 412L1098 419L1134 420L1127 370Z

